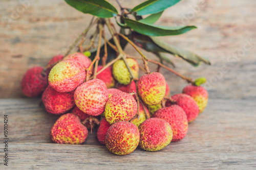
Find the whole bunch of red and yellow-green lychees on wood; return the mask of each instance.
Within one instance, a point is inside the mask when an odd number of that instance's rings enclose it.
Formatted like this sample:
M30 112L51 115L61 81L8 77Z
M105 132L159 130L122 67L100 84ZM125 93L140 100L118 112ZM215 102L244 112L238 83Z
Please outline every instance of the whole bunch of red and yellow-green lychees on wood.
M87 74L93 72L94 64L81 53L57 55L46 68L36 66L26 72L24 94L42 94L46 111L60 115L50 132L53 142L81 144L88 129L99 125L99 142L114 154L127 155L138 145L159 151L185 137L188 123L207 105L208 93L198 83L202 79L169 97L169 86L160 72L139 78L138 62L132 58L126 62L120 59L106 68L99 65L96 71L103 71L90 80Z

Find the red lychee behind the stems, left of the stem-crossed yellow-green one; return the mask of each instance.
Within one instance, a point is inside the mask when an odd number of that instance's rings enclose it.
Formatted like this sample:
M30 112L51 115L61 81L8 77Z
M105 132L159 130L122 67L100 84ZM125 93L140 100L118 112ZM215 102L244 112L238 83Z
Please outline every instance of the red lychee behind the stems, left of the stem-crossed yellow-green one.
M97 68L97 72L100 71L103 67L104 66L99 65ZM102 80L108 88L112 88L115 86L116 81L112 75L112 67L104 69L102 72L100 72L100 74L96 76L96 78Z

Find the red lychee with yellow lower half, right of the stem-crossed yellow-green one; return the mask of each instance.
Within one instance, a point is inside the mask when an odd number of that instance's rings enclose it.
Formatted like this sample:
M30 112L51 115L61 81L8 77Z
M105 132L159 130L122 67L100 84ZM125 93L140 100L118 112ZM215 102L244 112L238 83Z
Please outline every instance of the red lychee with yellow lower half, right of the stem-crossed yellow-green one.
M165 79L159 72L143 75L138 81L138 94L146 105L156 105L164 97Z

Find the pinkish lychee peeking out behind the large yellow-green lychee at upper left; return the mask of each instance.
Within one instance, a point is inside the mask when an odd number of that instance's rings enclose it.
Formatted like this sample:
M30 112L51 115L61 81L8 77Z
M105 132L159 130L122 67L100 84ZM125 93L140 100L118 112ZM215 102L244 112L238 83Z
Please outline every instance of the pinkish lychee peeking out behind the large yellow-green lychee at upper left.
M63 60L77 61L83 66L83 68L88 68L92 63L92 60L90 58L84 56L82 53L70 54L70 55L66 56L65 58L63 58Z

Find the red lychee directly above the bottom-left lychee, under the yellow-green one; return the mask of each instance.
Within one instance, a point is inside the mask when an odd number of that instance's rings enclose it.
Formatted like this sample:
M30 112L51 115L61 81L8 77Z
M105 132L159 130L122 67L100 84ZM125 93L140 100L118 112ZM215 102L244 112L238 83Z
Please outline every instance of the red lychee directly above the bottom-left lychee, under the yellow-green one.
M48 86L42 93L42 103L49 113L65 113L75 106L74 91L61 93Z

